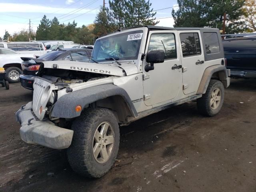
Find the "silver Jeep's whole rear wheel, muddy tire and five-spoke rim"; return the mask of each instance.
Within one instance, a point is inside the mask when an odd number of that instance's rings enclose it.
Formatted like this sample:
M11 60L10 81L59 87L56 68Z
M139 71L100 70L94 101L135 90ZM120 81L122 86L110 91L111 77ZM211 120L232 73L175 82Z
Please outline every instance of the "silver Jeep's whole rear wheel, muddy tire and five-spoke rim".
M197 108L203 115L214 116L224 102L224 86L219 80L210 80L206 93L197 99Z

